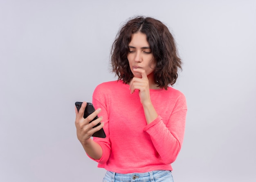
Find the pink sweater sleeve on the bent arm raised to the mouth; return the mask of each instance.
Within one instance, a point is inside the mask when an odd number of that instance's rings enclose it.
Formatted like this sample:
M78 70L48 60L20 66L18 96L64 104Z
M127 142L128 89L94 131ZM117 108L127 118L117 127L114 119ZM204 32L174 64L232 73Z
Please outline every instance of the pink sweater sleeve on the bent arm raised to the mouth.
M187 111L184 99L182 97L177 100L175 111L171 113L167 124L164 124L159 115L144 128L165 164L171 164L176 160L182 146Z

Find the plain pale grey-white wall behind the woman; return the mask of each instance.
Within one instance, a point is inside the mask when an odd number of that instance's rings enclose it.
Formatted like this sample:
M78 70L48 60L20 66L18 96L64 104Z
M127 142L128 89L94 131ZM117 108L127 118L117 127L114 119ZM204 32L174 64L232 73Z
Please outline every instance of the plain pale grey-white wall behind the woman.
M74 102L115 80L110 46L131 16L175 36L187 98L175 182L255 182L255 0L0 0L0 181L99 182Z

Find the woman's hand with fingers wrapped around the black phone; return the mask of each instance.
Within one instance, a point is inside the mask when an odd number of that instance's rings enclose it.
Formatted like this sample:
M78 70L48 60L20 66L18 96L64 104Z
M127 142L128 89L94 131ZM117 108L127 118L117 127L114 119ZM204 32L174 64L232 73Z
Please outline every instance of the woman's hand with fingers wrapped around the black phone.
M96 131L99 131L104 126L104 123L101 123L99 126L92 128L102 121L102 116L99 117L97 120L92 121L101 112L100 108L94 111L92 114L90 114L87 118L83 118L83 113L85 111L86 104L87 104L86 102L83 102L79 111L77 111L75 107L76 135L82 145L86 145L89 142L90 138L92 137L92 134L95 133ZM90 121L92 122L89 123Z

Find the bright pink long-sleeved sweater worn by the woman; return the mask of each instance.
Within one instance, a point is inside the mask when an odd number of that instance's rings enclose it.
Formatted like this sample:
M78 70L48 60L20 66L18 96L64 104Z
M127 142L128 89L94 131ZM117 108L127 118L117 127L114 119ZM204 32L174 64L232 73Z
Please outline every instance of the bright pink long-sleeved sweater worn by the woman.
M103 155L98 167L116 173L172 171L171 163L180 152L185 129L186 99L172 87L150 89L158 117L146 123L138 90L130 94L122 81L99 84L92 97L95 109L101 108L106 138L93 138ZM94 159L93 159L94 160Z

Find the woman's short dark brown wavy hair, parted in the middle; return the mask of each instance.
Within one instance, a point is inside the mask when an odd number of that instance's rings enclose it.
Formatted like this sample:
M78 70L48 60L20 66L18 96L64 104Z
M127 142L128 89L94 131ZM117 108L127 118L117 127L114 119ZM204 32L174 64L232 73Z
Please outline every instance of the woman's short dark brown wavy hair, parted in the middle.
M112 71L118 80L124 83L133 78L127 55L128 44L133 33L145 33L155 60L154 79L158 87L167 89L175 84L178 69L182 69L182 62L178 56L176 44L169 29L159 20L150 17L137 16L124 24L112 44Z

